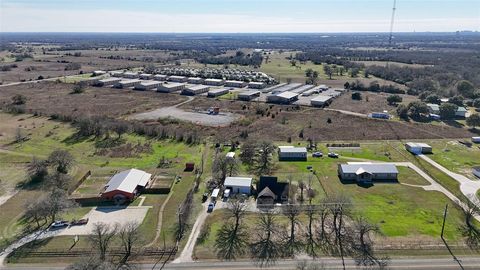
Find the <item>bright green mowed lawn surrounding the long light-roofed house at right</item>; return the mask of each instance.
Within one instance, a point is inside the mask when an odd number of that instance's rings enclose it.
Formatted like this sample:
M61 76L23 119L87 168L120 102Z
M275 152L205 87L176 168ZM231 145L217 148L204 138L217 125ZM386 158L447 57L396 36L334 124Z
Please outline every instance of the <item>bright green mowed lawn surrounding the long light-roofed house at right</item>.
M449 205L447 222L445 225L445 238L450 243L462 241L462 235L458 228L463 224L461 210L454 202L443 194L436 191L425 191L421 186L428 186L429 182L418 175L415 171L398 167L400 172L398 183L376 183L371 187L361 187L356 184L343 184L337 176L337 166L348 161L378 160L385 162L409 161L397 152L390 142L367 142L358 150L337 151L341 154L339 159L312 158L306 162L277 162L275 172L279 181L291 180L292 186L298 187L298 182L303 181L315 190L316 196L312 203L320 203L325 196L344 194L352 200L352 212L354 217L366 217L370 222L378 224L384 236L376 237L380 245L416 245L416 244L440 244L440 232L442 229L443 210ZM393 143L399 147L401 143ZM288 145L278 142L277 145ZM295 143L294 145L297 145ZM328 152L325 144L319 144L319 150ZM354 159L352 159L354 158ZM312 166L314 174L307 166ZM242 167L240 175L249 175L245 167ZM254 178L255 179L255 178ZM416 185L416 186L411 186ZM297 189L298 199L300 190ZM308 203L308 200L307 202ZM215 255L216 233L227 220L225 210L216 210L210 214L206 221L206 227L201 234L195 248L195 257L199 259L213 259ZM248 231L254 231L258 220L258 214L251 213L244 219ZM302 217L305 221L306 217ZM279 224L286 224L281 215L277 216ZM303 227L302 227L303 226ZM299 231L304 231L304 223ZM208 232L208 233L207 233ZM303 235L303 234L302 234ZM395 252L388 253L395 256ZM448 254L448 251L428 251L432 254ZM415 255L418 251L402 251L402 254ZM398 255L398 254L397 254ZM248 256L248 254L246 255Z

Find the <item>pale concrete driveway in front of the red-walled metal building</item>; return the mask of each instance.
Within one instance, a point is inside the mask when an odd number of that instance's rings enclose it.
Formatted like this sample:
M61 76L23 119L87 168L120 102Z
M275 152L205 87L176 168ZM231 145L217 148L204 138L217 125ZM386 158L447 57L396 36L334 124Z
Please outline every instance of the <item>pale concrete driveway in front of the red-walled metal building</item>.
M122 226L128 222L141 224L147 215L148 206L128 207L96 207L83 218L88 218L88 224L60 229L58 235L86 235L90 234L95 223L103 222L111 226Z

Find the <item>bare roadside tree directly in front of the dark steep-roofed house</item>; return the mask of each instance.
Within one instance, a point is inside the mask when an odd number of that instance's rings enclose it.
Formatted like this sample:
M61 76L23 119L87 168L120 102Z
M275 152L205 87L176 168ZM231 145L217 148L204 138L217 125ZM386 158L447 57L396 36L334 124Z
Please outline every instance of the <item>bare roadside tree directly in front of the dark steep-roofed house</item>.
M275 264L282 252L281 244L275 239L278 231L275 217L266 212L260 216L255 227L255 241L250 245L250 256L260 267Z

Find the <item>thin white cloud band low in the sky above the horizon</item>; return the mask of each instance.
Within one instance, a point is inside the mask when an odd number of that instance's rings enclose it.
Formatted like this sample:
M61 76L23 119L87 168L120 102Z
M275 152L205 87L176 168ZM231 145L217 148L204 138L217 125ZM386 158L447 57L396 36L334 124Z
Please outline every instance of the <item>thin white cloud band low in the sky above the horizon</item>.
M115 9L36 9L4 5L2 32L386 32L382 19L315 19L245 14L169 14ZM479 18L398 19L395 31L480 30Z

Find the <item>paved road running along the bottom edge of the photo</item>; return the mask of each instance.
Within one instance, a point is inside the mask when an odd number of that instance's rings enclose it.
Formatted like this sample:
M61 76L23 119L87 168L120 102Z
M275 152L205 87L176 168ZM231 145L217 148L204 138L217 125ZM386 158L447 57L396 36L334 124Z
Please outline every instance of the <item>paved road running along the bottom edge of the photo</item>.
M341 261L335 258L324 258L317 262L321 262L325 266L325 269L342 269ZM460 258L463 269L479 269L480 258L465 257ZM278 261L276 265L266 269L296 269L298 261L294 260L282 260ZM353 260L346 260L347 269L359 269L355 265ZM53 265L53 266L35 266L35 265L18 265L8 266L5 270L46 270L46 269L64 269L65 266ZM138 269L152 269L151 264L138 265ZM155 269L160 269L156 267ZM183 270L183 269L195 269L195 270L210 270L210 269L231 269L231 270L258 270L258 266L252 264L251 261L237 261L237 262L191 262L191 263L178 263L167 264L165 270ZM460 269L457 262L449 258L399 258L392 259L388 269L401 270L401 269L422 269L422 270L438 270L438 269Z

